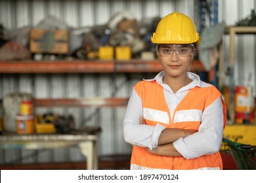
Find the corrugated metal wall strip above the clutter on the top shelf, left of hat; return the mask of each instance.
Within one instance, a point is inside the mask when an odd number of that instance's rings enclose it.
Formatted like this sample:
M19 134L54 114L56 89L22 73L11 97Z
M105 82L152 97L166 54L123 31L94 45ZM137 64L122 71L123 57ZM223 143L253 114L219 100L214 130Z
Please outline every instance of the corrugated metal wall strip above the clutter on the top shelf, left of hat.
M173 10L192 15L193 1L168 0L64 0L64 1L1 1L1 23L8 29L36 25L51 14L71 27L86 27L106 24L121 10L129 10L135 18L164 16Z

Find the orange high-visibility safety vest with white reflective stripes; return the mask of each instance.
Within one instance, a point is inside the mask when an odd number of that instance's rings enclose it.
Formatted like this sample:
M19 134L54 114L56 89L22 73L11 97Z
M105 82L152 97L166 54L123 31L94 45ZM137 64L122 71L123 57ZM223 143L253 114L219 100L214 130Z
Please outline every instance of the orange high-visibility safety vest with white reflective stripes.
M140 99L142 99L143 108L146 108L147 110L153 109L160 111L162 114L167 114L169 119L171 119L169 108L165 102L163 87L158 84L156 80L152 82L139 82L135 85L135 90L138 93ZM164 118L164 115L160 114L160 120L155 121L155 119L145 119L146 124L156 125L160 123L161 125L164 125L168 128L180 128L198 131L198 128L201 124L200 120L203 110L211 105L211 103L213 103L213 101L215 101L220 96L221 93L215 87L200 88L196 86L185 95L184 99L182 99L177 108L175 108L175 112L173 113L172 119L169 120L169 122L165 122L166 118ZM179 112L182 114L184 111L188 112L186 114L192 114L192 116L194 115L194 117L192 117L194 120L191 120L190 117L184 118L184 115L179 115ZM226 106L224 101L223 118L223 125L225 125ZM182 122L175 122L175 120L182 120ZM142 169L223 169L223 162L219 152L216 152L215 154L204 155L200 158L185 159L183 157L155 156L150 154L145 148L139 146L133 146L131 165L135 165L136 167L139 166Z

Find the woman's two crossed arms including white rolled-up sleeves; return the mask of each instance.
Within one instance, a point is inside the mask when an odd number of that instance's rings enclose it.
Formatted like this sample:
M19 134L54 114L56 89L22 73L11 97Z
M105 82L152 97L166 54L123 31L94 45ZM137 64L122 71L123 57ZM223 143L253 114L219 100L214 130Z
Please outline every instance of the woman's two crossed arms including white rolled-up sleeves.
M186 159L219 151L224 119L221 97L203 110L202 123L197 133L184 129L166 129L163 125L143 125L144 122L139 120L143 114L142 108L140 97L133 92L123 121L124 138L129 144L148 147L150 153L159 156L177 157L182 154Z

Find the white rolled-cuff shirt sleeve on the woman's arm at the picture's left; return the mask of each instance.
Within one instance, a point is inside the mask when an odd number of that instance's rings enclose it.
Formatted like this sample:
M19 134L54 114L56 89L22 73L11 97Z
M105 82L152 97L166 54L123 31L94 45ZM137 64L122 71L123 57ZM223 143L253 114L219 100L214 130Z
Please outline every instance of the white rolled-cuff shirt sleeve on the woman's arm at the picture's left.
M142 100L133 88L123 120L124 139L133 146L154 149L158 146L159 136L165 127L161 124L140 125L139 118L143 116L142 111Z

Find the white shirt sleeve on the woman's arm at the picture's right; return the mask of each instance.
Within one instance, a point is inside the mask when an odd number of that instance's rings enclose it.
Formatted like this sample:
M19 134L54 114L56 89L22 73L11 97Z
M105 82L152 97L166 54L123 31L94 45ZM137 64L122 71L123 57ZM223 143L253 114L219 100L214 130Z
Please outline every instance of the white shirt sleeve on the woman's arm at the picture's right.
M178 139L173 145L184 158L192 159L219 151L222 139L223 106L219 97L203 111L198 132Z

